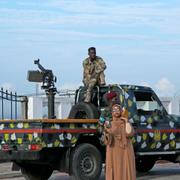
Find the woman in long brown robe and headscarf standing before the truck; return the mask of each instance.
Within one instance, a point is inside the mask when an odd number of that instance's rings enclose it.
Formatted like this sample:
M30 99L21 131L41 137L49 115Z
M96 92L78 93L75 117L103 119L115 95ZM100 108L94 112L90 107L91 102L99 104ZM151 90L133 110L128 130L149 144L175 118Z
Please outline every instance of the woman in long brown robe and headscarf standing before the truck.
M119 104L112 107L111 127L105 125L106 180L135 180L134 149L130 137L134 129L127 118L122 117Z

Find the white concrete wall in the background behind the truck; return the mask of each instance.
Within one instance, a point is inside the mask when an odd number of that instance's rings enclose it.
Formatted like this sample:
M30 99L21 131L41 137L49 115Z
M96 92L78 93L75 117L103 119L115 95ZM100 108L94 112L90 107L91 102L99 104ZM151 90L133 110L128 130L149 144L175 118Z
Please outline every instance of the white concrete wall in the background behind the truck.
M28 119L47 118L47 98L45 96L29 97ZM169 114L180 115L180 98L179 97L161 97L162 104ZM74 96L57 96L55 99L55 113L57 119L67 118L71 107L74 104Z

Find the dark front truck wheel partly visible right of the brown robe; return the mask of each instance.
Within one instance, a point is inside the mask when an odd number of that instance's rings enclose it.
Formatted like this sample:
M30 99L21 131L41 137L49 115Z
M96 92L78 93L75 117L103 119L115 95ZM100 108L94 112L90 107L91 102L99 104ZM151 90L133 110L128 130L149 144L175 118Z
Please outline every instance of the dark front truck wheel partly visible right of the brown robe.
M155 163L156 160L151 158L138 158L136 159L136 170L138 172L148 172L153 168Z

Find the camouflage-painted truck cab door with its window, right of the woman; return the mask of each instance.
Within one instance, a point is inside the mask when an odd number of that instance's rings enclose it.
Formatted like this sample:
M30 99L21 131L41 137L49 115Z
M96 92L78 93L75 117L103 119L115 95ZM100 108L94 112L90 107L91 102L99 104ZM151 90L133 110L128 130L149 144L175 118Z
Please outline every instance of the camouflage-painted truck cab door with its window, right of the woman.
M166 150L169 125L164 118L167 115L158 97L153 91L135 91L139 123L136 144L139 152L158 152ZM168 148L169 149L169 148Z

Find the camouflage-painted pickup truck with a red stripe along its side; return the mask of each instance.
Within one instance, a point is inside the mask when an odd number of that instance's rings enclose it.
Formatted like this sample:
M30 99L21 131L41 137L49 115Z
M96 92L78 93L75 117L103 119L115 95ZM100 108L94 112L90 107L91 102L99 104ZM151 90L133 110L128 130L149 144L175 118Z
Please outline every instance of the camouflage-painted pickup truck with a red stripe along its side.
M180 117L169 115L151 88L117 84L95 87L91 103L83 102L80 87L68 119L1 120L0 159L12 161L30 180L48 179L54 170L75 180L98 180L105 163L98 118L110 91L119 94L135 128L137 171L151 170L157 160L180 162Z

